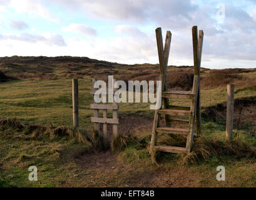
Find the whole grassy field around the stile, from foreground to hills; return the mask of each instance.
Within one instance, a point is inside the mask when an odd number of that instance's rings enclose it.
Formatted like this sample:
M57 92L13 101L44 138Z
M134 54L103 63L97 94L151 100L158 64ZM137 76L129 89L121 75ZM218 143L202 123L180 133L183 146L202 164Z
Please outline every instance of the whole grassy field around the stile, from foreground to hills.
M256 138L250 136L249 126L240 129L238 139L225 142L225 122L216 121L217 116L207 116L209 108L217 104L225 105L227 76L217 83L207 83L208 79L219 78L216 72L203 69L201 101L203 106L202 136L195 139L194 153L190 155L157 153L156 163L148 153L153 111L150 104L121 103L120 133L125 135L120 141L120 151L100 151L97 137L88 138L92 133L90 110L93 71L100 76L106 71L116 73L119 79L132 73L134 79L150 79L158 74L157 66L126 66L120 64L82 63L88 68L79 71L79 63L20 64L18 68L11 61L1 61L0 70L16 80L0 83L0 186L3 187L255 187L256 186ZM26 61L28 62L28 61ZM43 61L41 61L43 62ZM44 62L45 59L44 59ZM96 61L95 61L96 62ZM104 63L104 62L103 62ZM17 65L18 65L17 64ZM90 66L91 64L91 66ZM93 65L94 64L94 65ZM101 64L101 65L100 65ZM42 79L43 66L48 70ZM111 69L107 68L112 66ZM11 74L11 69L15 73ZM28 68L27 68L28 67ZM79 68L79 69L80 69ZM24 71L26 69L26 71ZM29 70L28 70L29 69ZM133 69L133 70L131 70ZM40 71L41 70L41 71ZM256 97L256 72L252 69L227 73L228 83L235 84L235 99ZM71 71L68 73L67 71ZM190 72L190 68L168 68L168 73ZM74 73L73 73L74 72ZM80 73L80 74L78 74ZM92 73L92 74L90 74ZM223 71L223 74L225 74ZM36 74L36 75L35 75ZM141 75L143 74L143 75ZM210 74L210 75L209 75ZM26 75L26 76L25 76ZM95 75L95 76L96 76ZM136 76L135 76L136 75ZM182 76L184 73L182 73ZM24 78L23 78L24 76ZM58 130L61 126L72 126L71 78L79 76L79 124L80 131L72 134L58 134L48 129ZM114 74L115 76L115 74ZM50 78L49 78L50 77ZM54 78L53 78L54 77ZM129 79L128 75L126 76ZM124 79L125 80L125 79ZM216 80L215 80L216 81ZM183 83L183 82L182 82ZM190 87L188 85L180 87ZM173 83L170 83L172 87ZM187 104L174 101L173 104ZM247 106L248 107L248 106ZM247 108L246 107L246 108ZM248 107L249 108L249 107ZM255 104L250 104L252 113ZM250 121L249 111L243 116ZM18 118L12 123L4 119ZM248 119L247 119L248 118ZM21 123L19 123L19 121ZM22 124L24 125L21 127ZM35 124L38 127L35 127ZM45 126L45 127L44 127ZM44 128L42 128L44 127ZM236 128L236 127L235 127ZM44 131L41 131L45 129ZM60 128L59 128L60 129ZM235 130L236 132L236 130ZM57 133L57 134L56 134ZM81 134L86 142L80 141ZM160 137L163 143L184 143L183 138ZM37 166L38 181L29 181L29 166ZM226 181L217 181L217 166L225 166Z

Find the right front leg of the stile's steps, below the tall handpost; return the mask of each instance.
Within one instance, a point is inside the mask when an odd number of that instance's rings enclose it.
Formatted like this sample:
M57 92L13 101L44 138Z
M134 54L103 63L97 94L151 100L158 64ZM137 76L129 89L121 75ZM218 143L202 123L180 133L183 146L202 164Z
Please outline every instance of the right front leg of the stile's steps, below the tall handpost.
M198 75L194 75L193 80L193 93L195 93L195 96L193 96L193 99L191 101L190 106L190 121L188 124L188 137L187 137L187 144L186 149L187 152L190 153L192 151L193 146L193 136L194 136L194 129L195 129L195 111L197 109L197 98L198 98Z

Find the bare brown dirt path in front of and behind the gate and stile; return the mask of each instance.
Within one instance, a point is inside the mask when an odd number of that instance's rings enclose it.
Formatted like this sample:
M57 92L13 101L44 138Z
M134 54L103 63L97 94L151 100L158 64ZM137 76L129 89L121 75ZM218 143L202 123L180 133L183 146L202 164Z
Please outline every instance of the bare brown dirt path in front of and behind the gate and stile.
M120 116L120 133L151 131L152 119ZM83 170L85 187L195 187L199 174L183 166L153 168L150 164L125 162L110 151L84 154L76 158Z

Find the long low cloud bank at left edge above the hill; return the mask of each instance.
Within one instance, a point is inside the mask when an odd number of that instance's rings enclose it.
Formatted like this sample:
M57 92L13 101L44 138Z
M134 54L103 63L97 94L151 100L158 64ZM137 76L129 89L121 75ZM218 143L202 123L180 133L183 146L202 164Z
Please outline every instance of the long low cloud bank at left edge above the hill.
M59 34L46 33L43 35L21 33L21 34L0 34L1 41L21 41L26 43L41 42L48 46L66 46L63 37Z

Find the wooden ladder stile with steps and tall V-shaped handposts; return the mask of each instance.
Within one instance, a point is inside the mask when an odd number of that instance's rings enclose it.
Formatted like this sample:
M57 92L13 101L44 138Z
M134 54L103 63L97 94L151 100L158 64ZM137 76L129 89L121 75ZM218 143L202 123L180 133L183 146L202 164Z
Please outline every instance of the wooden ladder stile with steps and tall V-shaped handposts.
M170 31L166 32L165 47L163 48L161 27L156 29L160 81L162 81L161 98L163 104L161 104L160 109L155 111L150 143L150 153L152 155L153 150L168 153L190 153L193 146L193 136L201 133L200 64L203 47L203 31L200 30L198 34L197 26L193 26L192 37L194 61L193 89L192 91L167 91L166 67L168 64L172 33ZM190 106L175 106L169 104L169 99L190 99L191 103ZM160 127L161 114L165 116L165 127ZM183 116L187 116L188 119L181 119ZM172 128L172 123L177 122L187 124L187 128ZM195 129L196 131L194 131ZM157 145L158 133L185 135L187 136L186 147Z

